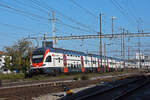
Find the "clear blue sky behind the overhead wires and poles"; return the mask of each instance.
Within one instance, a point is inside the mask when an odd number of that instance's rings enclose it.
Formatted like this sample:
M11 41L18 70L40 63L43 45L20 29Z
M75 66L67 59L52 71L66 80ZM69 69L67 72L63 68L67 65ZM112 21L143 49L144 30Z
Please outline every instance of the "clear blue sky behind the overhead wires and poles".
M120 27L129 32L137 32L137 28L149 32L149 4L149 0L0 0L0 50L28 35L51 36L52 24L48 19L52 10L56 17L56 36L97 34L93 30L99 31L100 12L103 13L103 34L111 33L111 16L116 17L114 33L119 33ZM72 29L66 24L80 29ZM108 46L108 52L120 50L119 41L103 39L103 42L115 44ZM130 45L137 43L136 38L130 41ZM97 53L98 39L58 41L56 47ZM109 56L116 55L119 54Z

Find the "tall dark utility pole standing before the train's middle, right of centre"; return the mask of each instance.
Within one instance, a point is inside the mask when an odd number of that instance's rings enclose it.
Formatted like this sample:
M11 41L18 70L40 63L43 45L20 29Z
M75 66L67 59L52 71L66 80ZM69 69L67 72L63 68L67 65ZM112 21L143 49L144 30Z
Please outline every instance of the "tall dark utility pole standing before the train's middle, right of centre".
M102 35L102 13L100 13L100 15L99 15L99 24L100 24L100 32L99 32L99 37L100 37L100 40L99 40L99 55L101 57L101 66L102 66L102 38L101 38L101 35Z

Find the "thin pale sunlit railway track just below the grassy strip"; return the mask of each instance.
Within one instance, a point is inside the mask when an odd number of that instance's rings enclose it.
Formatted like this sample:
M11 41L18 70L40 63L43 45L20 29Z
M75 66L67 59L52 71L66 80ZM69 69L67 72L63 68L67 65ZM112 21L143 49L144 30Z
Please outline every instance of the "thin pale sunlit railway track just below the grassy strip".
M128 76L134 76L136 75L135 73L128 73L128 74L122 74L122 75L115 75L115 76L100 76L96 78L90 78L90 80L97 80L97 79L107 79L107 78L112 78L115 79L116 77L128 77ZM22 82L10 82L10 83L2 83L0 86L0 89L2 88L14 88L14 87L27 87L27 86L40 86L40 85L57 85L61 83L69 83L73 82L72 79L55 79L55 80L34 80L34 81L22 81Z

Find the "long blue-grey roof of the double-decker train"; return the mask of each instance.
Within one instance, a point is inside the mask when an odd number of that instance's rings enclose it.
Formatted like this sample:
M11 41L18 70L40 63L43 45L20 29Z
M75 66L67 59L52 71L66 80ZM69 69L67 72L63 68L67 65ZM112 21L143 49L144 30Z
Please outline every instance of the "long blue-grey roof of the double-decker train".
M99 56L97 54L84 53L81 51L74 51L74 50L68 50L68 49L62 49L62 48L41 47L41 48L37 48L36 50L45 51L46 49L49 49L51 52L56 52L56 53L64 53L64 54L75 55L75 56L92 56L92 57L101 58L101 56ZM104 59L105 57L102 56L102 58ZM106 57L106 59L117 60L117 61L126 61L126 60L114 58L114 57Z

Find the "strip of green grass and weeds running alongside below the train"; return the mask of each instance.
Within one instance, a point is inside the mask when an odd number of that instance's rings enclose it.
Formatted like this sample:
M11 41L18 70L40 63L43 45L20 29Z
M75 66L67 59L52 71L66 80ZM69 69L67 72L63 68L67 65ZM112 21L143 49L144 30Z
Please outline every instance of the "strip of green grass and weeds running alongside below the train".
M92 77L100 77L106 75L119 75L131 72L140 72L139 70L125 70L121 72L107 72L107 73L79 73L79 74L62 74L57 76L48 76L48 75L37 75L33 76L32 78L24 78L23 73L11 73L11 74L0 74L0 80L2 82L20 82L20 81L34 81L34 80L88 80Z

